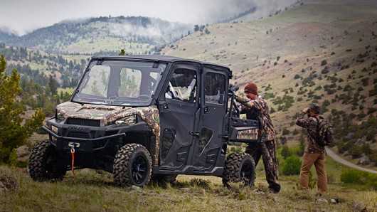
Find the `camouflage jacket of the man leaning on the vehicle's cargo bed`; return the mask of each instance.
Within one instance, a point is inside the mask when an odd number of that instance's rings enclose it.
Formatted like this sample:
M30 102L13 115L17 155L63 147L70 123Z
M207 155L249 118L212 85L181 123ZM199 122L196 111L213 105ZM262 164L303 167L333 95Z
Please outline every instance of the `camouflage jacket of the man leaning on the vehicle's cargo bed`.
M237 97L237 101L243 104L241 111L245 112L248 118L253 117L253 113L256 115L257 119L260 121L262 132L267 135L267 141L275 139L276 132L272 124L267 102L263 100L262 97L257 97L255 100ZM248 113L250 113L250 115Z

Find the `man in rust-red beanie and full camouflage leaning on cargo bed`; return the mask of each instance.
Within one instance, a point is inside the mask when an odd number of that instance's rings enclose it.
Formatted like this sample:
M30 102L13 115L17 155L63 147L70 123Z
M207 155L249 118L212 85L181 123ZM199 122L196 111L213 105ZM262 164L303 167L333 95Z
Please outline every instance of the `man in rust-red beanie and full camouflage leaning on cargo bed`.
M236 100L243 105L241 107L241 113L246 113L248 119L257 119L260 121L261 129L258 134L262 137L261 142L258 144L250 144L246 148L246 153L254 158L255 164L257 164L260 157L262 157L269 188L272 192L278 193L280 191L280 184L277 176L276 132L272 124L270 111L267 102L265 102L262 97L258 96L257 85L248 83L244 91L248 99L236 97Z

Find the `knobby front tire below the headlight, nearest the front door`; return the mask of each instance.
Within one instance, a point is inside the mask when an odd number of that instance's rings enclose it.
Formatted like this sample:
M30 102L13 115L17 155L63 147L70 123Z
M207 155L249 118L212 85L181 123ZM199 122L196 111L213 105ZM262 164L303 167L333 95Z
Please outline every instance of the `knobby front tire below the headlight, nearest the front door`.
M152 176L152 159L140 144L126 144L115 156L114 183L117 186L145 186Z

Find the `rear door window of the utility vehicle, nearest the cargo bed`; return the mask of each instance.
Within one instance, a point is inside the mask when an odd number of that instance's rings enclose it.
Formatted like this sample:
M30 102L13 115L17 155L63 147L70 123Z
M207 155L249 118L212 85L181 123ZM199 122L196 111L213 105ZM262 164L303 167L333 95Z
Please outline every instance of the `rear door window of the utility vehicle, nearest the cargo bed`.
M219 73L206 73L204 84L206 103L223 105L225 98L225 76Z

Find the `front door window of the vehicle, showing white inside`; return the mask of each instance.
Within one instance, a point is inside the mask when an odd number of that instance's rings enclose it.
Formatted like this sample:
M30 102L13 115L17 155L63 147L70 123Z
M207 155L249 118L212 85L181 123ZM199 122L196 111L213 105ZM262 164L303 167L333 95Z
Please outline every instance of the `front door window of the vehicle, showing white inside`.
M169 81L165 97L184 102L196 102L195 71L187 69L175 70Z

